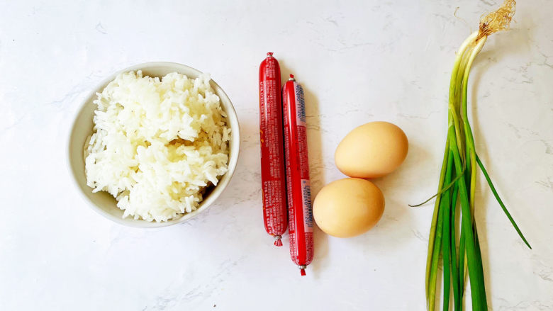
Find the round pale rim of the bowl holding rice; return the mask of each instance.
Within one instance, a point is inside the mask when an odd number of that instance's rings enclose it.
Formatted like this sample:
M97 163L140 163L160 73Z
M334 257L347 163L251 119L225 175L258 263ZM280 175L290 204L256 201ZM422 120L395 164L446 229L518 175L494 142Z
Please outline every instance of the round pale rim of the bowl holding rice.
M230 149L229 157L228 157L228 171L223 175L223 177L219 180L219 183L217 186L213 188L213 191L210 193L210 195L207 198L204 198L201 201L201 205L196 210L193 210L191 213L186 213L182 215L181 217L168 220L165 222L156 222L156 221L147 221L143 219L135 220L133 218L123 218L123 217L116 217L115 215L111 215L110 213L106 212L103 208L100 208L96 203L94 203L93 200L91 200L88 196L86 196L79 186L79 182L77 181L76 172L74 171L74 168L72 166L71 160L72 160L72 152L71 152L71 142L72 142L72 136L75 126L77 125L77 118L79 114L82 112L84 106L86 103L90 101L90 99L96 95L96 92L101 91L101 88L104 88L109 82L113 81L118 74L121 74L123 72L130 72L130 71L138 71L147 69L147 67L173 67L175 72L179 72L179 69L189 69L191 72L195 72L196 74L203 74L203 72L199 71L198 69L195 69L194 67L187 66L185 64L180 64L177 62L143 62L140 64L134 64L130 67L126 67L125 69L117 70L116 72L113 72L112 74L108 74L108 76L105 79L102 79L98 84L96 84L91 91L86 93L86 96L82 99L82 101L79 104L79 108L74 112L72 115L72 122L70 123L70 128L68 131L68 135L66 138L66 168L69 170L69 175L71 175L72 184L73 187L76 188L77 192L79 193L79 196L84 199L84 201L89 205L89 207L94 210L96 213L99 213L100 215L106 217L108 220L111 220L113 222L118 223L119 225L125 225L127 227L138 227L138 228L159 228L159 227L168 227L171 225L177 225L182 222L186 222L186 220L190 220L193 217L196 217L200 213L202 213L205 210L208 210L208 208L219 198L221 193L225 191L225 189L228 187L230 180L232 179L236 166L238 164L238 158L240 157L240 122L238 120L238 114L236 113L236 110L234 108L233 102L230 101L230 98L225 93L222 87L217 84L217 82L213 79L211 79L211 86L215 86L216 94L219 96L219 94L222 94L225 96L225 98L228 100L228 103L230 103L230 106L228 107L227 112L227 118L228 119L234 119L236 126L235 128L232 128L233 132L231 135L235 135L236 140L236 147L233 149ZM161 77L160 77L161 78ZM231 121L228 120L228 123ZM231 136L232 137L232 136ZM229 143L230 147L230 143ZM84 161L84 159L83 159ZM224 183L221 183L225 179ZM220 190L215 192L218 187L222 186L222 188L219 188ZM92 191L92 189L91 189ZM115 198L114 198L115 199Z

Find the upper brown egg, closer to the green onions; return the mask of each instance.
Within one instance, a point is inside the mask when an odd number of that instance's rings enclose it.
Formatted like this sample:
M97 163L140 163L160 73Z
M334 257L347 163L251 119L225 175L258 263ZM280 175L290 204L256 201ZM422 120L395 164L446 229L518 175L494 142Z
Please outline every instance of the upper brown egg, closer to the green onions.
M388 122L371 122L354 128L334 154L336 166L350 177L372 179L391 173L407 157L407 136Z

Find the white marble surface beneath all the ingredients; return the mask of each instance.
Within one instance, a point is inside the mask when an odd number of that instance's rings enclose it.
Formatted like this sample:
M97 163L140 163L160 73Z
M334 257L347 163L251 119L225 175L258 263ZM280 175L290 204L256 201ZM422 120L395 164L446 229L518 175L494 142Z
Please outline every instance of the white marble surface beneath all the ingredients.
M0 310L423 310L432 205L408 203L437 186L454 51L499 3L451 2L0 1ZM469 86L479 153L534 247L481 184L493 310L553 310L551 12L553 1L520 1ZM379 225L352 239L315 231L303 278L262 225L257 70L268 50L306 89L314 193L342 177L333 152L354 126L388 120L410 140L401 169L376 181ZM208 213L141 230L84 203L65 142L92 87L157 60L211 72L238 111L242 150Z

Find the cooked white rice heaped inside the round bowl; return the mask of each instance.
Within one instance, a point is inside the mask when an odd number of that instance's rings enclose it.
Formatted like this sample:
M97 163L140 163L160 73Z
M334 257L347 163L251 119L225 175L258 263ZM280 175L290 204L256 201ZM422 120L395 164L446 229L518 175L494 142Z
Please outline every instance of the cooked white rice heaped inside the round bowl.
M96 94L86 182L111 193L123 217L161 222L190 213L227 171L230 128L209 80L126 72Z

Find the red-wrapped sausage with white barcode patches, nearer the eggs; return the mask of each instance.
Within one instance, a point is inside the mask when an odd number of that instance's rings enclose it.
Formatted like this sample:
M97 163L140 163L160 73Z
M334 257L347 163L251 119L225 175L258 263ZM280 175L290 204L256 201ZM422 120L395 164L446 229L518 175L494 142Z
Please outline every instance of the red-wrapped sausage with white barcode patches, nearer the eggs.
M306 106L303 88L293 75L282 90L284 108L284 150L286 152L286 186L290 256L302 276L313 260L313 209L307 157Z

